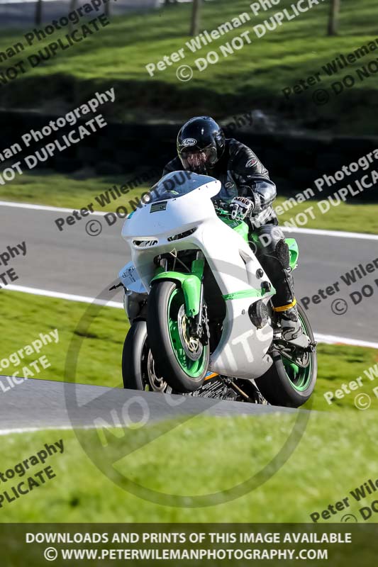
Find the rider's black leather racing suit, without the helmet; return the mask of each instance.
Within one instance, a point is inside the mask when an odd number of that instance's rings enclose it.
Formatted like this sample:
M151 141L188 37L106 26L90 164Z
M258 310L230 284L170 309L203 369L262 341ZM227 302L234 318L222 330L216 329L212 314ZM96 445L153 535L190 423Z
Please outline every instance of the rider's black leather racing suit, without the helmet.
M165 166L163 174L183 169L181 160L175 157ZM273 181L269 179L269 172L248 146L229 138L223 156L213 169L208 170L208 174L222 184L221 191L214 199L245 196L254 201L251 225L259 240L257 250L252 242L251 247L276 288L277 293L272 299L274 307L289 305L294 301L289 249L282 242L284 233L277 226L277 215L272 208L277 191Z

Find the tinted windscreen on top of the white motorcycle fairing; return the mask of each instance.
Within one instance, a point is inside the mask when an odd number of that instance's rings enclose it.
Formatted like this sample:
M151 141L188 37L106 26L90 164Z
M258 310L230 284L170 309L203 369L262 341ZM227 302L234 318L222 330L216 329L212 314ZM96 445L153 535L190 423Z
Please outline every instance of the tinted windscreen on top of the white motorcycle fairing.
M155 201L167 201L191 193L194 189L198 189L201 185L216 181L208 175L199 175L192 172L172 172L157 181L151 191L150 199L143 198L145 203L154 203Z

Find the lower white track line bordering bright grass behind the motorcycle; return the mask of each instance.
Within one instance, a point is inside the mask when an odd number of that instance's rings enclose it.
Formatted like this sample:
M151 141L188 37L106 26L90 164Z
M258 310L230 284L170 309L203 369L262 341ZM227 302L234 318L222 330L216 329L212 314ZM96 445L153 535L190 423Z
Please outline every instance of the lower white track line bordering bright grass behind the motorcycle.
M86 296L74 296L72 293L60 293L60 291L48 291L46 289L27 288L24 286L6 286L6 290L20 291L21 293L31 293L33 296L52 297L57 299L65 299L67 301L78 301L79 303L94 303L95 305L104 305L116 309L123 309L123 303L117 301L106 301L104 299L95 299ZM348 344L351 347L369 347L378 349L378 342L363 341L360 339L349 339L348 337L338 337L337 335L323 335L322 333L314 333L318 342L326 344Z

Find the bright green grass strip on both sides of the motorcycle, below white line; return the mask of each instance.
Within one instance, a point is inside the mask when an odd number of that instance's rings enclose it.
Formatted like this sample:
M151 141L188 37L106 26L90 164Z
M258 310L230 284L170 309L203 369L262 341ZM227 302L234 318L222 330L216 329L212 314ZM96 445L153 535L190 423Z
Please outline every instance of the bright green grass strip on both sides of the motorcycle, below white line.
M30 362L40 356L47 357L50 367L35 372L29 378L53 381L76 381L94 386L122 387L121 354L128 330L126 315L121 309L99 308L53 298L30 296L16 291L1 290L1 359L31 344L42 332L57 329L59 343L48 344L40 354L30 354L21 364L1 368L3 374L23 376L22 369L30 369ZM117 296L117 301L121 297ZM364 370L377 363L374 349L340 345L318 345L318 383L311 398L316 410L354 409L355 393L335 399L328 405L323 394L335 391L343 383L364 376ZM75 367L75 362L77 366ZM31 367L33 370L33 368ZM374 383L365 378L361 392L371 393ZM360 393L358 391L358 393ZM372 395L372 408L378 409L378 398Z

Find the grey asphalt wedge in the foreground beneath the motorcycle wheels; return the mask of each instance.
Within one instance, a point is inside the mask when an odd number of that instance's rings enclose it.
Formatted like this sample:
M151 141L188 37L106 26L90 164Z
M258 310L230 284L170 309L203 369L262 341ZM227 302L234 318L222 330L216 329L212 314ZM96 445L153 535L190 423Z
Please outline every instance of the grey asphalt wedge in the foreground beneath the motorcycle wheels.
M124 408L127 408L128 420L138 424L142 420L147 424L202 413L224 417L298 411L271 405L137 392L33 378L11 387L6 376L0 376L0 383L0 434L55 428L93 428L96 427L97 420L101 419L113 424L113 416L124 415ZM121 425L125 427L128 424L121 422Z

